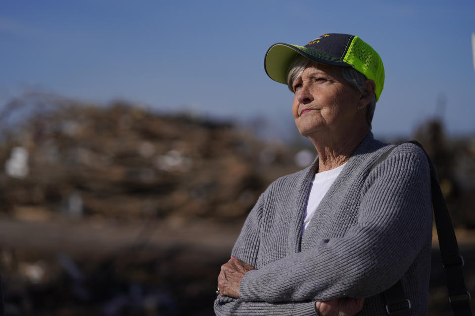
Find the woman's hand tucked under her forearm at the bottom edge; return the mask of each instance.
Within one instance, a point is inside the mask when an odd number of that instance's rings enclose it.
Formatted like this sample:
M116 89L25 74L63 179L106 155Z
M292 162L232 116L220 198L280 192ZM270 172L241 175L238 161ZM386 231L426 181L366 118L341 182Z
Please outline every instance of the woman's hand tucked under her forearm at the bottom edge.
M320 316L353 316L363 309L364 301L364 298L335 298L315 302L315 309Z

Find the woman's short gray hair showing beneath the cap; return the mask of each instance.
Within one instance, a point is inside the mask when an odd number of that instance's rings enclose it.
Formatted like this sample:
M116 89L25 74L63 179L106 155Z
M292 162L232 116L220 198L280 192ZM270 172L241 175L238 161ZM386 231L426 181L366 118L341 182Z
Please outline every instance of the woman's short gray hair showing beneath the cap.
M287 70L287 86L288 89L292 92L293 91L293 81L300 76L303 72L305 67L309 64L314 63L314 61L305 58L301 55L295 57L292 62L290 63L288 70ZM343 79L345 79L353 88L360 91L363 95L366 94L365 91L365 80L366 76L351 67L340 67L341 68L341 75ZM366 123L371 129L371 122L373 121L373 116L375 115L376 109L376 95L373 95L373 99L371 99L370 103L366 105Z

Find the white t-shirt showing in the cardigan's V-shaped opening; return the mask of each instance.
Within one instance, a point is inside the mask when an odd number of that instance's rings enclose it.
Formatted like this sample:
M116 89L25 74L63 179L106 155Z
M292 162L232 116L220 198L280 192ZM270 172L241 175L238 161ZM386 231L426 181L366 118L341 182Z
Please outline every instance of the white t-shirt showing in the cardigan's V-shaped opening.
M345 164L346 162L332 170L315 174L315 178L312 181L312 187L308 195L307 210L304 214L302 233L307 228L313 214L317 210L318 205L322 201L323 197L327 194L336 177L340 174L341 170L343 170Z

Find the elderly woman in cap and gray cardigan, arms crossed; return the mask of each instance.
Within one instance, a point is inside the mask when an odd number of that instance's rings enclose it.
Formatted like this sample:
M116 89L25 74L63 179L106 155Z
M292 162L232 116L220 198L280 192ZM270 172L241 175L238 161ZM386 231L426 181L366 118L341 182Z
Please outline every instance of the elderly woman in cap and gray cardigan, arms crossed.
M427 315L429 167L416 145L373 138L379 54L325 34L271 46L265 69L295 94L295 124L318 157L259 197L221 267L216 315ZM383 295L395 283L399 306Z

